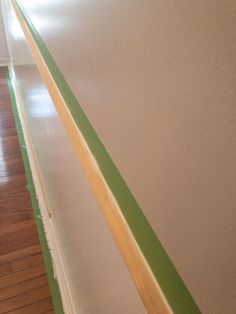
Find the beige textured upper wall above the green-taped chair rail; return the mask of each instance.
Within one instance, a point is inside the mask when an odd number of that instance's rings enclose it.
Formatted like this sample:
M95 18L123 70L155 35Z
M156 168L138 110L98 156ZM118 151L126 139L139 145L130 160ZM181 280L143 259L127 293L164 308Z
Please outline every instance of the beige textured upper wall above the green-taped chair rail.
M236 1L21 0L204 313L236 308Z

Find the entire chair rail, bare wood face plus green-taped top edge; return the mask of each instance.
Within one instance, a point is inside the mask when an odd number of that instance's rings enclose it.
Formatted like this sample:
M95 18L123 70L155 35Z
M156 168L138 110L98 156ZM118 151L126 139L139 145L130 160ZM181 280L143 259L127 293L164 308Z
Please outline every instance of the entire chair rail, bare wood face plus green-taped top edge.
M161 300L167 312L200 313L21 1L12 2L42 79L148 311L164 313L158 303Z

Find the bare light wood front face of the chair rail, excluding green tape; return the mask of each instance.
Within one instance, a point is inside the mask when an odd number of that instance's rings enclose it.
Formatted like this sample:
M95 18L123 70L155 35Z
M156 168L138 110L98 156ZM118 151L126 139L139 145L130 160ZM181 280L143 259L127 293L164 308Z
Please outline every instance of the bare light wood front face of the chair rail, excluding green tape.
M57 88L54 79L48 70L47 64L45 63L45 60L43 59L37 44L35 43L18 6L16 5L16 2L13 1L12 3L42 79L46 84L58 114L64 123L75 152L83 166L86 176L89 179L90 185L96 195L106 221L111 228L113 236L120 248L147 311L149 313L161 314L172 313L169 304L167 303L152 274L152 271L146 263L143 254L139 250L139 247L130 232L116 200L103 179L99 167L91 154L85 139L83 138L77 125L74 123L73 117L67 109L60 90Z

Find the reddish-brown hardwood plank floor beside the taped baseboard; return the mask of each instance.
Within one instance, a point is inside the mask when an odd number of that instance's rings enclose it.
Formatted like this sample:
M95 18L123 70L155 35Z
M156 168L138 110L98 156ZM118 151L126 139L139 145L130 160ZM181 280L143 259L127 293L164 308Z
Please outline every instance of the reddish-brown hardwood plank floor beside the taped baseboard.
M0 313L54 313L4 68L0 68Z

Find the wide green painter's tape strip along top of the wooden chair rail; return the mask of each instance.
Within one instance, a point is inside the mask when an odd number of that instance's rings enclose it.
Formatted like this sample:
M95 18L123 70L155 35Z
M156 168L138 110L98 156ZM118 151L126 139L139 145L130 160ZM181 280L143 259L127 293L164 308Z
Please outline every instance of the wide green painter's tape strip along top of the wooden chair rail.
M18 7L24 20L61 92L71 115L83 134L89 149L95 157L100 171L113 193L119 207L136 239L136 242L146 258L158 284L160 285L169 305L176 314L200 313L183 280L177 273L173 263L162 247L152 227L143 214L140 206L130 192L121 174L86 117L71 88L58 69L45 43L31 22L22 5Z

